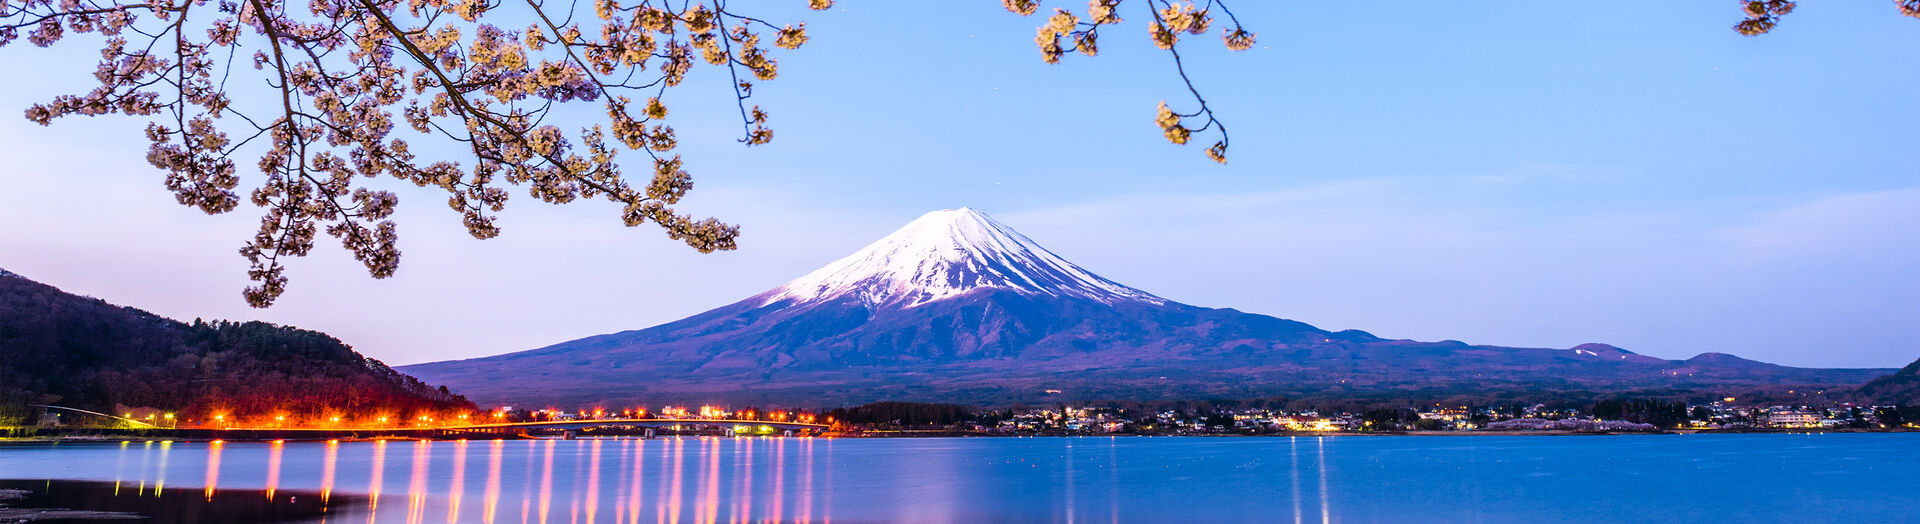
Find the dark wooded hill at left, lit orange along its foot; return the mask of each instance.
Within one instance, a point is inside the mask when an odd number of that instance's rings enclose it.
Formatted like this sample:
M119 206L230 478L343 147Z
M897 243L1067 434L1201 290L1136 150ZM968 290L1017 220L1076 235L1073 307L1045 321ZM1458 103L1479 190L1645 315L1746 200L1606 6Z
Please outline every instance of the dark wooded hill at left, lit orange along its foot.
M31 403L242 420L472 409L323 332L186 324L0 271L0 417L33 413Z

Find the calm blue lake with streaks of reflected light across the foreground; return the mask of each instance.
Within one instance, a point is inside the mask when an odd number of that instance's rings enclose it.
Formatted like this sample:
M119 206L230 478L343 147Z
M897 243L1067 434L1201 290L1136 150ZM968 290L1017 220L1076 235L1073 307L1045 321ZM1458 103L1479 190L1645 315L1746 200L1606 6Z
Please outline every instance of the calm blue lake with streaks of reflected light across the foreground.
M0 478L154 522L1895 522L1920 434L60 443Z

